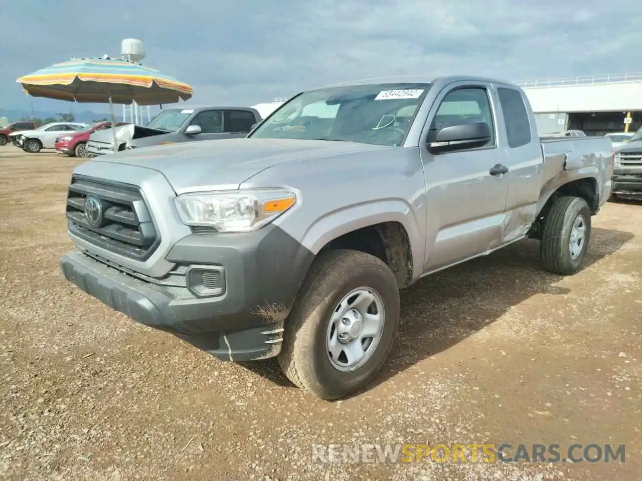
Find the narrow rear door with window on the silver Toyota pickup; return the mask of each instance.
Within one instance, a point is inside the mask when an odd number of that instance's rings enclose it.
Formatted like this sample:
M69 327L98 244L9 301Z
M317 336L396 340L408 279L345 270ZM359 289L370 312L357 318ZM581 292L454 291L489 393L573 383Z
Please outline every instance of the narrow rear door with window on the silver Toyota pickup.
M496 90L503 123L500 141L508 154L505 164L509 181L503 233L503 243L506 243L523 237L537 214L544 162L537 126L528 114L530 105L525 95L508 85L497 85Z

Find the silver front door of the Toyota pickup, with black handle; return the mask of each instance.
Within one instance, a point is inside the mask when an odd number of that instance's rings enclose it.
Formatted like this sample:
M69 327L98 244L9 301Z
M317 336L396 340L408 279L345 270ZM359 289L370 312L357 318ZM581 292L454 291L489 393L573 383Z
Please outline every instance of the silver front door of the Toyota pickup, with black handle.
M421 156L428 215L424 270L435 271L499 247L508 176L491 169L505 164L498 146L494 93L489 85L454 83L437 96L424 129ZM483 146L435 153L430 137L443 127L485 122L491 131Z

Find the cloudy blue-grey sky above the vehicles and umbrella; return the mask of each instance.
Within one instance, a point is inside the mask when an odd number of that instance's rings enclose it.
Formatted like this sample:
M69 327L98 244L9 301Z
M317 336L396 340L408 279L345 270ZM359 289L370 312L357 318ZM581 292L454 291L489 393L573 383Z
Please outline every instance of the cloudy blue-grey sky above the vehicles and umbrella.
M637 8L636 8L637 6ZM119 56L189 83L193 104L244 105L377 76L522 81L642 72L634 0L0 0L0 108L31 110L15 80L72 56ZM35 110L107 112L33 99Z

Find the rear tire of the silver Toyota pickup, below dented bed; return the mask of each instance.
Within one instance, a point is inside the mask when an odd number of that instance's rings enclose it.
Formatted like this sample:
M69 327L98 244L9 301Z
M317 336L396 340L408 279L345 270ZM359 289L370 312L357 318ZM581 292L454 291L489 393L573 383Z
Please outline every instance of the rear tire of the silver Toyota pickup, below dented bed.
M582 242L571 253L571 235L575 228L581 233ZM568 276L580 270L591 238L591 210L584 199L562 197L553 204L544 223L540 253L544 269ZM574 242L574 244L576 244Z

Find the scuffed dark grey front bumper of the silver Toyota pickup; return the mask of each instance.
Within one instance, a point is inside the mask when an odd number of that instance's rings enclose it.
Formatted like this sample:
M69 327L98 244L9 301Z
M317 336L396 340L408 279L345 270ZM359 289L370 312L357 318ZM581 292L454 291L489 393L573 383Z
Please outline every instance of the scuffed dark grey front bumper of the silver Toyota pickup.
M223 291L199 296L190 285L162 285L125 268L72 251L65 278L146 326L173 333L222 360L243 362L281 351L285 318L313 256L275 226L248 235L189 235L167 260L189 269L220 266ZM218 240L217 240L218 239Z

